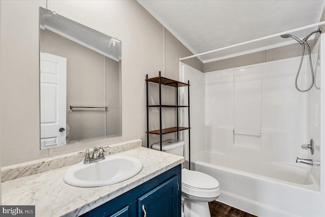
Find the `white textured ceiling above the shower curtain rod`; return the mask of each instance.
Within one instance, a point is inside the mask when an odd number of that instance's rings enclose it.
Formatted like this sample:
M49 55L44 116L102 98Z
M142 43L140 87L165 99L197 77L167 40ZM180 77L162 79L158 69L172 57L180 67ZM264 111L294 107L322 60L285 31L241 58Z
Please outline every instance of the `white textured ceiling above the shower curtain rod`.
M325 1L138 2L194 54L269 36L320 21ZM293 33L303 38L317 27ZM201 56L205 63L295 43L276 37Z

